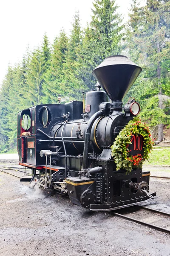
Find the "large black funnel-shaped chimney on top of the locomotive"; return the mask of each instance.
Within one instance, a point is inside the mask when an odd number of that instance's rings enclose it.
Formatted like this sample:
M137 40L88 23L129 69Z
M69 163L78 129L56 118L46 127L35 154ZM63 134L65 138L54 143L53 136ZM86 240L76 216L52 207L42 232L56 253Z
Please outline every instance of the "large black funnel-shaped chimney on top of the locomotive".
M105 58L92 74L114 102L122 101L141 71L126 56L114 55Z

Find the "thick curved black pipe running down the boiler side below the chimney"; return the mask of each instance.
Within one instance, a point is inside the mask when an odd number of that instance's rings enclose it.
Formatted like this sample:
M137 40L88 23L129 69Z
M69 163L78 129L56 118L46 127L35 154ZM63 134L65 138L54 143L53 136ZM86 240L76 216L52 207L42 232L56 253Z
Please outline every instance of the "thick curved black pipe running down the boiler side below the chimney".
M104 113L102 110L94 113L93 116L91 116L87 128L86 128L86 132L85 132L85 145L84 145L84 151L83 151L83 160L82 160L82 170L86 170L88 168L88 148L90 145L90 137L91 137L91 129L92 126L95 122L95 120L99 117L102 116Z

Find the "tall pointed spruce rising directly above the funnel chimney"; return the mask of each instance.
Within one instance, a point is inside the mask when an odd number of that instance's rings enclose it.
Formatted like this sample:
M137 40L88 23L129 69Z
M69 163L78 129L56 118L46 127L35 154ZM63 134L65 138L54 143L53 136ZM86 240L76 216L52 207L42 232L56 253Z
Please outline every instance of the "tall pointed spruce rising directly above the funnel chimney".
M115 0L96 0L91 27L96 38L96 46L100 50L101 60L111 55L117 55L120 52L122 34L120 33L123 26L120 26L121 18L116 14L118 6Z

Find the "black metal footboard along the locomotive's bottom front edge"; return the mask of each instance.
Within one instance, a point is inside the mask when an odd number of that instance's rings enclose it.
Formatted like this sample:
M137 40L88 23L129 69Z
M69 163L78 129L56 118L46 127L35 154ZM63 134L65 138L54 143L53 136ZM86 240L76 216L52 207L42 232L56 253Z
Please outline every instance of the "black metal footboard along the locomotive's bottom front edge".
M130 207L136 204L147 203L150 200L153 200L156 197L156 192L151 194L154 198L149 198L148 196L144 196L142 198L135 198L128 201L121 201L114 204L91 204L90 210L92 211L112 211L120 208Z

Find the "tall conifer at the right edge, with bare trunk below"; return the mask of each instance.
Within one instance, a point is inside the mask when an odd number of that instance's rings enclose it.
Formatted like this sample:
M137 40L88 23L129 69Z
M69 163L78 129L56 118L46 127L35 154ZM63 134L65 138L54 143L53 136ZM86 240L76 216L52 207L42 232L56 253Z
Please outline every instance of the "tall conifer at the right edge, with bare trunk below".
M166 79L170 61L170 2L147 0L146 6L139 7L133 0L132 7L128 31L130 55L144 69L141 84L144 90L142 87L143 93L140 97L138 94L138 98L147 99L143 116L151 125L159 125L158 140L162 141L163 124L170 122L166 108L170 102L169 82ZM139 86L134 90L137 88Z

